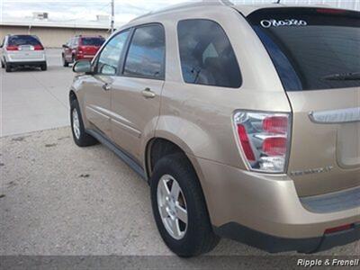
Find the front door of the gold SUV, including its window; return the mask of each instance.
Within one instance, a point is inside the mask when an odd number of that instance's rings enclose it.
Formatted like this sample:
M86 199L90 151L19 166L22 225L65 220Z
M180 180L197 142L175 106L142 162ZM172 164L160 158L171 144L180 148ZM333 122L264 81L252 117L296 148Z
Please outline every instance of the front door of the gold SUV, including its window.
M94 60L94 75L85 80L85 114L88 121L103 134L111 137L110 99L112 82L119 73L119 62L129 31L122 31L112 37Z

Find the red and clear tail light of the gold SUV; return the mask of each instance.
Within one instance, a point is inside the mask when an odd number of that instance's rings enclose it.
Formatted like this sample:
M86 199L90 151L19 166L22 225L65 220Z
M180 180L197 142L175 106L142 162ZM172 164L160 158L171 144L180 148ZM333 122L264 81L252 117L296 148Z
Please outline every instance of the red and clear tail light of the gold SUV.
M236 112L239 146L251 170L284 173L290 148L290 113Z

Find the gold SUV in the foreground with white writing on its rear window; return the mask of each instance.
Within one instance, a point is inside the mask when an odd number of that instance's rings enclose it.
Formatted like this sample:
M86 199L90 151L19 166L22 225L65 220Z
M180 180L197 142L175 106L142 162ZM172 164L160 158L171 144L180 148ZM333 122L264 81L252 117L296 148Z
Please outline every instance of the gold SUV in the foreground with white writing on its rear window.
M356 11L211 2L148 14L76 62L73 137L148 181L181 257L219 236L270 252L344 245L360 238L359 48Z

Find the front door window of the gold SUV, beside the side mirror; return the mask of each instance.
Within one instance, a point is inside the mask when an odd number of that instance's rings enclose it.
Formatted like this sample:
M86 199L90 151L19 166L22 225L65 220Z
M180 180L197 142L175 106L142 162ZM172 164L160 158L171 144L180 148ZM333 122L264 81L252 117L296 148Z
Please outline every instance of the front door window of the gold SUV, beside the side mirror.
M121 51L128 35L129 31L122 31L105 45L97 63L98 73L103 75L115 75L117 73Z

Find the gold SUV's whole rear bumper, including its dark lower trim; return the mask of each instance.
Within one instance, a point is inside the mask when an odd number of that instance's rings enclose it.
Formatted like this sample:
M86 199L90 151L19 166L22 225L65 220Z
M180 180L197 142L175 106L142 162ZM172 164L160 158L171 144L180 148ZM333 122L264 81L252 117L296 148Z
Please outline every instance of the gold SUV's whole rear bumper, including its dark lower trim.
M333 247L343 240L347 243L359 238L358 229L354 230L356 237L339 233L336 238L342 240L334 240L335 235L329 238L324 232L345 224L356 224L358 228L360 204L351 204L350 208L341 210L311 211L302 204L293 180L288 175L260 174L198 157L190 159L202 184L211 223L225 237L265 247L264 249L268 247L268 242L275 241L278 243L275 246L284 245L283 248L269 248L273 252L312 252L322 241L323 247ZM246 229L237 229L238 227ZM260 240L263 237L254 236L248 229L271 236L272 239L266 240L265 237L265 240ZM231 230L234 232L230 233ZM256 239L258 244L249 243L251 239ZM333 244L328 244L330 242Z

